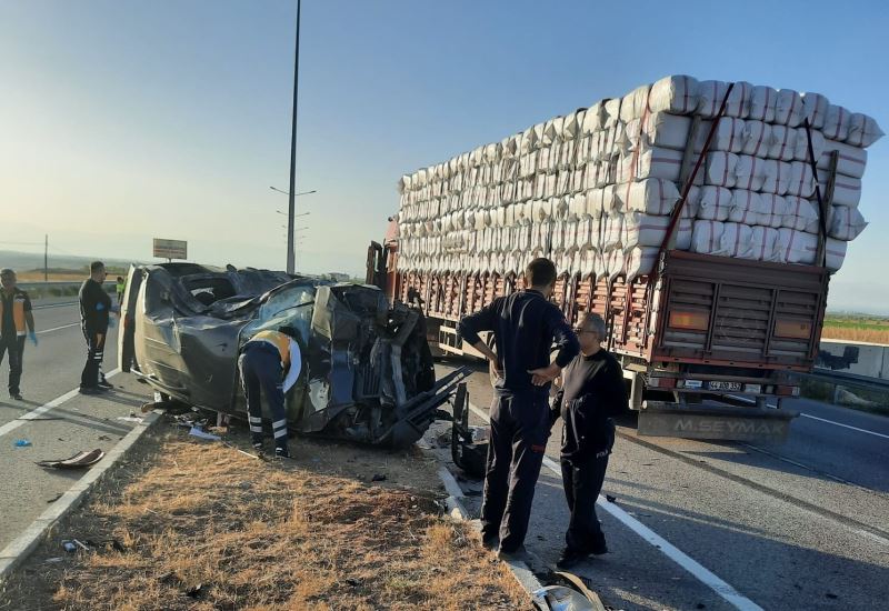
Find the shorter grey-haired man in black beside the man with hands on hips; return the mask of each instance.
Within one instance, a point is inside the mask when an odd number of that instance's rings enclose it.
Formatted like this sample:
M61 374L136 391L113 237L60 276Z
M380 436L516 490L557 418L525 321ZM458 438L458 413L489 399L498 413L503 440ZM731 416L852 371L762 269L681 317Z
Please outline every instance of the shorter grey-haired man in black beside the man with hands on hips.
M565 551L557 563L570 569L589 554L608 551L596 517L608 454L615 444L612 417L628 409L627 387L620 363L601 348L605 321L599 314L581 315L575 332L580 354L562 372L562 388L552 403L550 421L561 414L562 483L571 519Z

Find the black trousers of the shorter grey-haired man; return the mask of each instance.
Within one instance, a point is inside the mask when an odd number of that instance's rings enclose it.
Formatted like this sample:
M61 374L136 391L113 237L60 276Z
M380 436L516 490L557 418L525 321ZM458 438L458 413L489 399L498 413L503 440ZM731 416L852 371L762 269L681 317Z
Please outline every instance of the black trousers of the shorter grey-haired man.
M565 533L568 549L581 553L601 552L606 549L605 534L596 515L596 500L602 491L608 455L615 443L613 425L610 442L599 452L583 458L562 458L562 485L571 519Z

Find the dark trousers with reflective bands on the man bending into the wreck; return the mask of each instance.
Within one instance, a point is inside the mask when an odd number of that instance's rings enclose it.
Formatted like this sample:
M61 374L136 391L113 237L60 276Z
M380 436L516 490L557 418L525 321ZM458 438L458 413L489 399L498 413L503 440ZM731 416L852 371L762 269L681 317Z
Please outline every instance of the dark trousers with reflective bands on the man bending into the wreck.
M247 342L238 359L241 383L247 399L247 418L253 443L262 443L262 403L260 389L271 412L271 428L274 444L287 449L287 412L281 375L281 355L278 349L267 342Z

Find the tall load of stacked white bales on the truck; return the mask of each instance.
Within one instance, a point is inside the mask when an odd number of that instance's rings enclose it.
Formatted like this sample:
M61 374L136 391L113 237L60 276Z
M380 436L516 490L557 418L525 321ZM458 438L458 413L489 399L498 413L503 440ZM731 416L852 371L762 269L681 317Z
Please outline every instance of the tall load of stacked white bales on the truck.
M818 93L747 82L717 119L728 89L667 77L402 177L400 268L518 274L549 257L561 272L632 279L652 270L662 244L812 264L823 228L827 264L839 269L867 226L858 203L865 149L882 136L876 121ZM713 121L667 243L683 163ZM831 207L819 219L816 186L827 194L835 153Z

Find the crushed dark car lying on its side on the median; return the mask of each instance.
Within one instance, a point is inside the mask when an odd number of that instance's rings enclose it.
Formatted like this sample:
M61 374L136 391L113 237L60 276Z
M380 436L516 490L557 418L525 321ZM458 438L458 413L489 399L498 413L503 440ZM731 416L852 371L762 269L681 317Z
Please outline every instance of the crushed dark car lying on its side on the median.
M408 445L468 375L436 380L422 314L374 287L164 263L131 268L127 291L119 348L131 347L132 372L162 397L222 413L246 415L240 348L296 329L302 370L284 405L300 433Z

